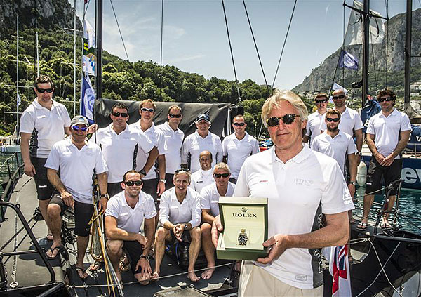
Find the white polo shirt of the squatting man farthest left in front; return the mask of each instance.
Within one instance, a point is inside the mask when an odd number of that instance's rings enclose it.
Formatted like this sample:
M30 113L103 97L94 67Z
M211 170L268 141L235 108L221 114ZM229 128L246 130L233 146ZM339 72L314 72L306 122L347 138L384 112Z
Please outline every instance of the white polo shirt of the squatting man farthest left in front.
M111 197L107 203L105 216L117 219L117 227L127 232L138 233L143 223L143 218L154 218L156 209L151 195L140 191L139 201L132 209L126 202L124 191Z

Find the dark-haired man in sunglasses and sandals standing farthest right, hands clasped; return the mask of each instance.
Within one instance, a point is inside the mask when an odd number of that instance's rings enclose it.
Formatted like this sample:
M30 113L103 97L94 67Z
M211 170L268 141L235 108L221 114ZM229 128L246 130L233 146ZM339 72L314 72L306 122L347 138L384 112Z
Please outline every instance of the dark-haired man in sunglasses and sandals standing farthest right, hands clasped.
M363 219L357 226L359 230L367 229L368 215L374 201L374 194L368 194L381 189L382 177L385 185L401 178L401 152L406 147L410 137L410 121L406 114L394 108L396 95L390 88L382 90L377 95L382 111L368 121L367 144L372 153L368 167L366 196L364 196ZM396 187L389 196L387 211L391 211L396 199ZM383 217L382 227L389 225L389 213Z

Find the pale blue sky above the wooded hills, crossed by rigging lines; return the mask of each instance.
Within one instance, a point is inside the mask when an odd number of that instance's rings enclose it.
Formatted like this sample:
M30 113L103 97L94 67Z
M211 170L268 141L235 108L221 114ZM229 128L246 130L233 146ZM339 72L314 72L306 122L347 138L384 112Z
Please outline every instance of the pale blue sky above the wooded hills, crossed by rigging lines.
M386 16L387 0L370 1L370 8ZM74 0L69 0L74 5ZM389 18L406 11L406 1L389 0ZM239 81L265 84L246 12L241 0L225 0L225 11ZM352 6L352 1L347 0ZM128 58L131 62L153 60L159 64L161 47L161 0L112 0ZM298 0L274 86L291 89L342 44L349 9L343 1ZM246 0L256 44L267 83L272 85L294 1ZM413 1L413 9L420 0ZM119 29L109 0L104 1L102 47L126 59ZM83 16L83 0L76 0ZM86 19L95 27L95 1ZM346 28L346 27L345 27ZM184 72L234 81L234 70L220 0L163 1L163 65Z

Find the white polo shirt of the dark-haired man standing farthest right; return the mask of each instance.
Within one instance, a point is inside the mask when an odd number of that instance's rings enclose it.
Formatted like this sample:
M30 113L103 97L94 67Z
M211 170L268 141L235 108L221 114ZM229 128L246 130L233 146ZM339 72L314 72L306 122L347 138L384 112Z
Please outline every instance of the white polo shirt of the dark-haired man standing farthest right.
M399 143L399 133L410 131L410 121L406 114L394 108L393 112L385 117L383 112L379 112L368 121L367 134L375 136L375 147L384 157L392 154ZM395 159L400 159L398 154Z

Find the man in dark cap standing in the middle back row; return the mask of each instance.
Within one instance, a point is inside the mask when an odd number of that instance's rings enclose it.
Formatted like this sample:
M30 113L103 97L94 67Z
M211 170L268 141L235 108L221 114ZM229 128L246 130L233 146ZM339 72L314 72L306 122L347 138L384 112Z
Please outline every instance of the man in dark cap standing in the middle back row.
M212 166L222 161L222 142L218 136L209 131L210 117L208 114L199 114L196 118L196 131L186 137L181 151L182 166L187 167L190 156L190 170L196 172L200 169L199 154L204 150L212 153L214 159Z

